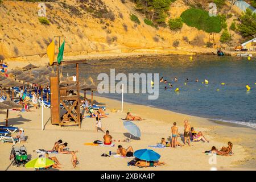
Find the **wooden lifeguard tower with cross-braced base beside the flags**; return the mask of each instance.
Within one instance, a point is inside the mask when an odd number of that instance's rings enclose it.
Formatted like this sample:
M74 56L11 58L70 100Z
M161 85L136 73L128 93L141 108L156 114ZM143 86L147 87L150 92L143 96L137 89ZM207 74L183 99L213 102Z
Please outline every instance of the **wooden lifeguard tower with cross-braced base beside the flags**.
M57 76L50 77L51 85L51 123L59 126L79 126L81 127L80 114L80 85L79 85L79 63L84 63L85 60L78 61L61 61L60 64L53 63L52 66L57 67ZM68 87L60 87L59 65L76 65L76 95L67 95ZM71 103L72 104L67 104ZM67 110L63 117L61 117L60 104Z

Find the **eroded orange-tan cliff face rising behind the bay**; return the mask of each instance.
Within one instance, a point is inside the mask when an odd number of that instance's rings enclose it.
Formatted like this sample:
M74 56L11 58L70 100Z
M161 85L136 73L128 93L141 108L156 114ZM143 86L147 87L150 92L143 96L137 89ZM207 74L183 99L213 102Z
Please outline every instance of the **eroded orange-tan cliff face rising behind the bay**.
M49 25L39 22L39 2L3 1L0 5L0 55L7 59L46 58L46 48L54 36L66 37L65 56L168 53L173 49L202 48L209 41L207 33L185 24L180 31L148 26L130 1L59 0L45 4ZM170 15L179 16L188 8L177 0L171 5ZM130 14L136 14L141 24L131 21ZM216 34L215 41L219 38ZM56 40L57 52L59 39ZM178 47L174 47L175 41L179 42Z

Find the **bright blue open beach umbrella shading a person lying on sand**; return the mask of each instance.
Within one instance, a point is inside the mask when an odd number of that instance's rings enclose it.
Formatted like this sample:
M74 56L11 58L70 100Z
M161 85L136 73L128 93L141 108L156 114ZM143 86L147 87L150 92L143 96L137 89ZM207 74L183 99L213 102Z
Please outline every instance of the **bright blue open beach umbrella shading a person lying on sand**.
M134 152L134 156L141 160L146 161L155 161L160 159L160 154L156 153L153 150L141 149Z

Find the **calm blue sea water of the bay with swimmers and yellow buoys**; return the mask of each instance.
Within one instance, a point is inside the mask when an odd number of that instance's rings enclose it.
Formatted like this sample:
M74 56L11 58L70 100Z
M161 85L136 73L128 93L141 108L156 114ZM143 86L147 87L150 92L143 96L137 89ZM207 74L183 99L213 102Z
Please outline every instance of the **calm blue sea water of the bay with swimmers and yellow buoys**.
M124 101L155 106L178 113L197 115L225 122L237 122L256 127L256 60L229 56L165 56L117 60L88 61L80 64L80 76L97 81L99 73L159 73L180 92L164 90L159 83L158 100L148 100L147 94L125 94ZM75 72L73 65L63 68L64 75ZM174 82L177 77L179 80ZM184 84L185 79L189 81ZM195 82L196 78L199 82ZM204 79L209 84L202 84ZM225 82L225 85L221 85ZM249 84L250 92L245 86ZM217 91L217 89L219 91ZM121 94L99 94L121 100ZM131 112L133 109L131 108Z

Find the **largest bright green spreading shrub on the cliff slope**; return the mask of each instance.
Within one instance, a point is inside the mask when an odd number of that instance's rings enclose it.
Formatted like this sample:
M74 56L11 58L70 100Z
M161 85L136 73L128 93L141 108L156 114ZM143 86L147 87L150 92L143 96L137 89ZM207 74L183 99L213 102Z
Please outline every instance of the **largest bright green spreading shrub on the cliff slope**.
M209 16L208 11L191 8L185 10L180 17L189 27L195 27L208 33L219 33L222 30L220 16Z

